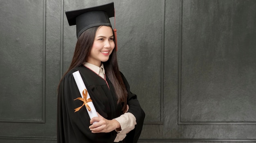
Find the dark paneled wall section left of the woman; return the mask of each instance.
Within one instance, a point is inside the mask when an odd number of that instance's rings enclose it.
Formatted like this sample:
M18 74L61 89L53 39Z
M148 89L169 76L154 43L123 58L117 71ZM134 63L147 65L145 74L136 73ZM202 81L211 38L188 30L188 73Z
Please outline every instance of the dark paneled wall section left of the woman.
M56 143L61 1L0 1L0 142Z

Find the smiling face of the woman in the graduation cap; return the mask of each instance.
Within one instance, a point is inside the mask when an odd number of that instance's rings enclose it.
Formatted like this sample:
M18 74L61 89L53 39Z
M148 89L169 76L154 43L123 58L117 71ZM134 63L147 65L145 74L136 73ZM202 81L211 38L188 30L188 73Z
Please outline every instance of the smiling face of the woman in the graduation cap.
M110 54L115 48L112 28L109 26L100 26L96 32L88 63L101 66L101 62L108 61Z

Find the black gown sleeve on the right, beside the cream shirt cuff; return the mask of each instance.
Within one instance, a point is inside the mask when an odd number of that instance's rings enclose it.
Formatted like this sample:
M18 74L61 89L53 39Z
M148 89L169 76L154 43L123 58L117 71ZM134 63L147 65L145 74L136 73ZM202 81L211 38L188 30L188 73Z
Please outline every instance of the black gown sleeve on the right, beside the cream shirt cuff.
M126 85L126 89L128 91L128 98L127 98L127 104L129 106L129 113L132 113L135 118L137 125L135 125L135 128L131 130L128 134L126 134L125 141L126 143L137 143L139 136L141 134L145 113L143 109L141 108L139 101L137 100L137 95L133 94L130 91L130 85L128 84L128 81L124 77L124 75L121 73L121 76L124 80L124 84Z

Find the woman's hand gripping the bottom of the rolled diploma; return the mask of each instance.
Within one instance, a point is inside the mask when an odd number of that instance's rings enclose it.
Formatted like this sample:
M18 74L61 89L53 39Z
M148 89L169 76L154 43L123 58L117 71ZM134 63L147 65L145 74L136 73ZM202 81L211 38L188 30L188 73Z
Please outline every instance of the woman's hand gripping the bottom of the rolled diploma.
M92 133L111 132L112 130L120 128L120 124L117 120L108 120L99 115L99 113L97 114L99 117L93 117L90 120L90 124L96 121L96 123L89 126Z

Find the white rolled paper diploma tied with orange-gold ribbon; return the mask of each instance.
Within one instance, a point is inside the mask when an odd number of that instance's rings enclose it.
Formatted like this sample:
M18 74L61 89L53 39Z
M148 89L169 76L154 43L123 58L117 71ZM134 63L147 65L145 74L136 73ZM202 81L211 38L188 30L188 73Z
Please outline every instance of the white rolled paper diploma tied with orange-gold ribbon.
M79 89L79 92L81 94L81 97L83 98L83 90L86 89L86 87L85 87L85 84L83 83L83 79L81 77L81 74L79 73L79 71L76 71L76 72L73 72L73 76L74 76L74 79L76 81L76 85L77 85L77 87ZM87 94L87 99L88 98L90 98L89 92ZM88 112L88 114L89 114L89 116L90 116L90 119L92 119L93 117L98 117L97 111L96 111L93 103L92 102L88 102L87 104L91 108L91 111L89 111L88 108L85 107L87 112Z

